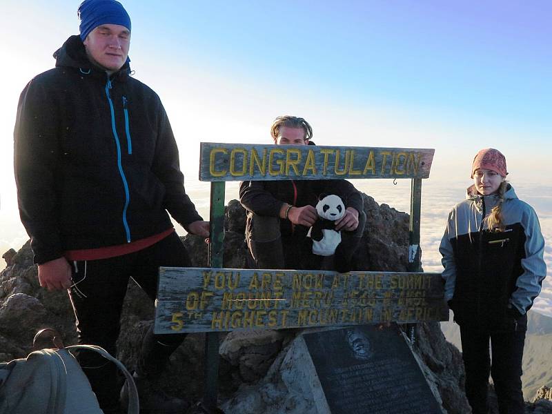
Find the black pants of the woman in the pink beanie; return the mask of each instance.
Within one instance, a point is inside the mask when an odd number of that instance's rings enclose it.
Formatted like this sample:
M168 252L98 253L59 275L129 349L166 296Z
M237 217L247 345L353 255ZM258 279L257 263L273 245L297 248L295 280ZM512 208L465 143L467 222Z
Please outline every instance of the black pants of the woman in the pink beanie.
M493 376L500 414L523 414L525 408L520 377L524 327L493 332L478 326L461 325L460 335L466 368L466 397L473 414L489 412L489 373ZM489 358L489 339L492 363Z

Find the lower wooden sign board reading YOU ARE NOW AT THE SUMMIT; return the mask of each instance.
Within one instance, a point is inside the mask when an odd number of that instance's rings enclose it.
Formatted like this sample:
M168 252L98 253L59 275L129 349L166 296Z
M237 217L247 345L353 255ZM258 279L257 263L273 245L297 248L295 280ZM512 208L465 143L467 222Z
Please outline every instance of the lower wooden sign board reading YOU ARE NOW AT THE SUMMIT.
M449 319L439 273L160 268L155 333Z

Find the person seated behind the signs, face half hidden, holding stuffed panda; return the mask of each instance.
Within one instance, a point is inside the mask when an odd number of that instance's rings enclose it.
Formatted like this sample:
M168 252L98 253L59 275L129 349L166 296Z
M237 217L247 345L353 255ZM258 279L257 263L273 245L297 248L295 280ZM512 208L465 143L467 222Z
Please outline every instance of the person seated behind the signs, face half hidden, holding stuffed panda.
M277 117L270 128L276 145L313 145L313 128L303 118ZM331 267L351 270L366 223L362 196L353 184L336 180L243 181L239 201L247 210L246 239L256 268L306 269L319 266L308 243L308 229L318 214L319 195L339 195L346 206L336 230L342 230L341 259Z

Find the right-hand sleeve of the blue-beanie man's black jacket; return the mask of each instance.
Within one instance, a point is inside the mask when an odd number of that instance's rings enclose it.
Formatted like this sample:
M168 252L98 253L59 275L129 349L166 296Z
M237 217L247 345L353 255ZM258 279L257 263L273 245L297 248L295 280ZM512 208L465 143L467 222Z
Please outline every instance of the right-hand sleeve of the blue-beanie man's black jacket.
M160 100L157 108L157 122L157 143L152 172L165 186L166 210L187 230L188 224L202 218L184 189L184 175L180 170L175 136L172 134L165 108Z

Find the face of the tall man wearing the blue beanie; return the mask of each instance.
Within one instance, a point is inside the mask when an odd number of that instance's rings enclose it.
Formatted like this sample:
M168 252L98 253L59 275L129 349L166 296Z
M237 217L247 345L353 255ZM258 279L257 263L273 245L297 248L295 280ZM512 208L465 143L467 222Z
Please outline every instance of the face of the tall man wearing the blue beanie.
M130 32L119 24L102 24L92 30L83 43L88 59L111 75L126 62Z

